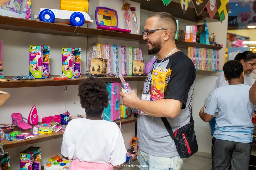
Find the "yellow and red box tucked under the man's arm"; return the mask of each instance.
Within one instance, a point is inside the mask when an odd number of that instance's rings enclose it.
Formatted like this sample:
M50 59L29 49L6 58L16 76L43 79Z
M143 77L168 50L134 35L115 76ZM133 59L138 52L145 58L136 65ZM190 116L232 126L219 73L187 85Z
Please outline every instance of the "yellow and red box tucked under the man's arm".
M154 101L164 98L164 92L170 81L171 72L172 70L170 69L158 68L153 70L150 100Z

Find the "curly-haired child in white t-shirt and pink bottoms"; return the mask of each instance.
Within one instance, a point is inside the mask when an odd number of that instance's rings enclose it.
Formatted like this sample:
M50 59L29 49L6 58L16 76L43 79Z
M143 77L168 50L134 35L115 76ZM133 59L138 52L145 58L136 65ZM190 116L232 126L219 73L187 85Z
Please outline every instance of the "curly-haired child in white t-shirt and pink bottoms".
M118 125L102 120L108 107L107 85L101 78L86 78L78 87L86 118L71 120L63 134L61 154L72 160L70 170L122 169L126 161L124 139Z

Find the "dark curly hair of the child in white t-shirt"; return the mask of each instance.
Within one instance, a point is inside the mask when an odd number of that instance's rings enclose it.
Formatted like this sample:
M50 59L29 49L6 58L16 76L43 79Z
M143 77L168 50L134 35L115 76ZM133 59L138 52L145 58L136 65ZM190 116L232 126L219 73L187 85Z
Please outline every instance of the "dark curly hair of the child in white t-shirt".
M78 96L86 114L98 117L108 106L106 83L101 78L86 78L78 87Z

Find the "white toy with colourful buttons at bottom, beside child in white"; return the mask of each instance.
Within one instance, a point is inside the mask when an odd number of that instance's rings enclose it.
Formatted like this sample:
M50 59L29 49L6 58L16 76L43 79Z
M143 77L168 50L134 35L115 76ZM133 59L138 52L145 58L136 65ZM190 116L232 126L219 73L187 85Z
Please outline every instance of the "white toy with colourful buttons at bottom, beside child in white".
M44 164L44 170L68 170L71 165L72 160L61 158L56 155L48 159L48 161Z

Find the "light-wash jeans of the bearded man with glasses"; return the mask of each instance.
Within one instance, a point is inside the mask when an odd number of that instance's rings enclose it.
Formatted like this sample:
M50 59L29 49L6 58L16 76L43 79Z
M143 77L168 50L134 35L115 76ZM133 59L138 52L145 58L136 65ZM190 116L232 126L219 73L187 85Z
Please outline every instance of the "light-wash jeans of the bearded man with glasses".
M183 164L183 159L179 155L175 157L159 157L149 155L140 149L138 152L140 170L180 170Z

